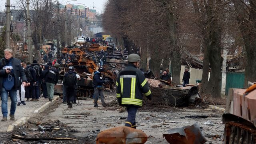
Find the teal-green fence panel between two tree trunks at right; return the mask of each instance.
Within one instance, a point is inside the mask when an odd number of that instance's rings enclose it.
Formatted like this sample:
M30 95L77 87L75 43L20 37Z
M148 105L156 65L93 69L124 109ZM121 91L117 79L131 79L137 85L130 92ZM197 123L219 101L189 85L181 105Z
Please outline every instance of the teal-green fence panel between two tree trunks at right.
M226 95L229 88L244 88L244 72L227 72Z

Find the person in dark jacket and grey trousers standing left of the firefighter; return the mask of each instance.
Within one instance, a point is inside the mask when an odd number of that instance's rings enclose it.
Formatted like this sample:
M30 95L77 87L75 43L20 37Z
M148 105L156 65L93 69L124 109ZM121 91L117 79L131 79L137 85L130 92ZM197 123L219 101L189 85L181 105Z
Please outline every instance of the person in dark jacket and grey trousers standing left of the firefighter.
M100 96L102 106L106 106L107 104L105 103L104 100L104 95L103 95L103 89L104 87L102 84L106 83L107 80L102 80L102 75L101 72L104 72L104 68L100 67L99 70L96 70L94 72L93 76L93 85L94 85L94 107L99 107L98 106L98 98Z

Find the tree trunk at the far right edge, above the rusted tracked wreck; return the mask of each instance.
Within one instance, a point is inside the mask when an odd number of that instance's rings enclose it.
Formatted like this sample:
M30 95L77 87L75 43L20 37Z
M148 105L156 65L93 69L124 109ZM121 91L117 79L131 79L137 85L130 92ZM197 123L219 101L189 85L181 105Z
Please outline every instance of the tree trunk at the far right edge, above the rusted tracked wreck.
M254 0L249 0L250 6L245 6L245 3L241 2L240 0L233 1L235 11L238 14L237 20L239 24L239 29L243 36L246 51L244 87L247 88L248 81L256 81L256 23L254 22L254 20L256 19L256 3ZM246 10L244 7L248 8L248 10Z

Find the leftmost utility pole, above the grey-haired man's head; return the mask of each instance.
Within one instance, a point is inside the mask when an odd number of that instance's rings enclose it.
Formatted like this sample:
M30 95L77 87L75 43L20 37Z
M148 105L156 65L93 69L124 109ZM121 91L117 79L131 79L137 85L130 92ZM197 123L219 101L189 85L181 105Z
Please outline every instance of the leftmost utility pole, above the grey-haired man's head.
M5 48L10 48L11 40L10 40L10 0L6 0L6 42Z

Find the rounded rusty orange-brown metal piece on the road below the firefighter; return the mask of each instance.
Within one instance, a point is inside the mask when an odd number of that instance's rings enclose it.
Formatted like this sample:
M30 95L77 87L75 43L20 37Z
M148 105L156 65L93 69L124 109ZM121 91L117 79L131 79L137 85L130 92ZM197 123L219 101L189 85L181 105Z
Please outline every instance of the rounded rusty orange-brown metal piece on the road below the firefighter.
M148 136L141 130L119 126L100 132L96 144L144 144L147 139Z

